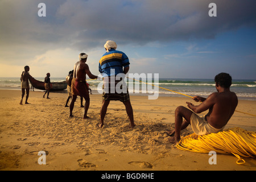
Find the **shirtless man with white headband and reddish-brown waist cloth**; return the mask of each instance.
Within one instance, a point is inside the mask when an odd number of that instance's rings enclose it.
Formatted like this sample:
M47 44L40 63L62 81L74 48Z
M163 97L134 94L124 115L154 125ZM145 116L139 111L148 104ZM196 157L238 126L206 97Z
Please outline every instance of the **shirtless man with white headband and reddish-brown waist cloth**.
M88 64L86 64L88 55L86 53L80 53L79 59L75 64L74 67L74 73L73 73L73 79L71 83L71 93L72 93L72 100L71 104L69 106L70 114L69 117L73 117L72 111L74 108L74 104L76 101L77 96L84 97L85 99L85 105L84 105L84 119L89 118L87 116L87 112L90 105L90 96L89 96L89 90L86 85L86 74L91 79L96 79L97 76L92 75L92 73L89 70Z

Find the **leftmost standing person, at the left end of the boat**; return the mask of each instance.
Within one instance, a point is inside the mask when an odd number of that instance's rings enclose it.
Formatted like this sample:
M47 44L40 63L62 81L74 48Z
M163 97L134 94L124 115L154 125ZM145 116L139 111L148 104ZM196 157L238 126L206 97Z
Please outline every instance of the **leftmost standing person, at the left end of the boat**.
M30 77L32 78L30 73L28 73L29 71L30 71L30 67L25 66L24 71L22 72L22 75L20 76L21 88L22 88L22 99L19 102L20 105L22 105L22 102L23 102L23 97L25 95L25 89L26 89L26 93L27 93L25 104L29 104L27 102L28 96L30 95L30 83L28 82L28 78L30 78Z

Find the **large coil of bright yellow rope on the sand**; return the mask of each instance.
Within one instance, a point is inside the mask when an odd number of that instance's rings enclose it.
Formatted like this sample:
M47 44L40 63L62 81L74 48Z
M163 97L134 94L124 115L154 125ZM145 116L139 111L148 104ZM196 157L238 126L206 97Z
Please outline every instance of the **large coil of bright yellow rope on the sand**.
M256 157L256 132L236 127L207 135L193 133L183 137L176 144L176 147L180 150L199 153L215 151L220 154L233 154L238 158L237 164L244 164L245 160L241 159L240 156Z

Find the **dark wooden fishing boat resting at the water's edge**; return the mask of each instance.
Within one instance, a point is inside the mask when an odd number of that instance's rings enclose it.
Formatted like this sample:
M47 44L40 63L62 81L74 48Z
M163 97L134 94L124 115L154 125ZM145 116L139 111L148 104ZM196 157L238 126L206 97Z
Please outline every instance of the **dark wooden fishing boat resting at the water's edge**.
M44 88L44 82L43 81L38 81L35 78L29 78L30 83L34 88L39 89L39 90L46 90ZM57 90L64 90L67 89L67 82L66 81L61 81L61 82L51 82L51 91L57 91Z

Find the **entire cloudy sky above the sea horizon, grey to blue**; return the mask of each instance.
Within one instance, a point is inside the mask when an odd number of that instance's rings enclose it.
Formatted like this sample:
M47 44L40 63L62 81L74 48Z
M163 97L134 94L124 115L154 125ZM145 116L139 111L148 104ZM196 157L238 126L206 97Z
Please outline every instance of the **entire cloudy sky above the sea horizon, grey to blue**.
M98 75L103 46L114 40L130 73L255 80L255 7L255 0L0 0L0 77L19 77L25 65L33 77L65 77L80 52Z

